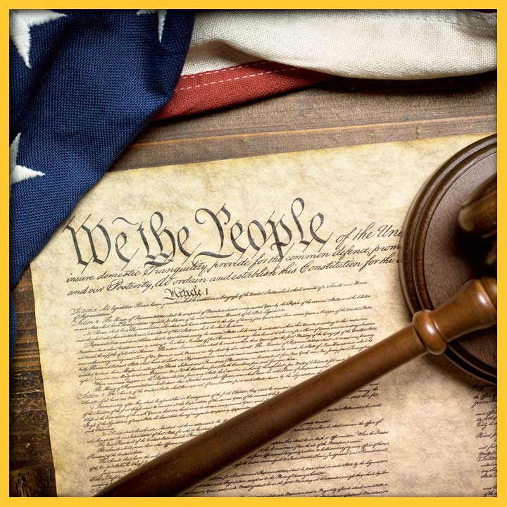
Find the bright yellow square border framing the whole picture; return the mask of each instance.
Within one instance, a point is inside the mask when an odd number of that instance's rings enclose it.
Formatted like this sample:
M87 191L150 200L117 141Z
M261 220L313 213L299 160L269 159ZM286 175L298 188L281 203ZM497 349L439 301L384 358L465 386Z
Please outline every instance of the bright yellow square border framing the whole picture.
M477 4L485 5L477 5ZM1 256L1 275L0 279L4 280L4 289L0 290L0 301L4 311L1 314L1 324L4 334L3 347L4 353L2 354L2 373L0 380L0 390L2 398L2 410L0 417L0 449L1 449L1 468L0 468L0 500L3 505L8 506L20 506L30 503L35 506L121 506L121 507L155 507L165 506L170 503L173 506L224 506L234 503L241 503L246 506L282 506L282 505L298 505L298 506L311 506L315 502L318 502L320 506L337 506L344 505L345 503L354 503L354 507L358 506L370 506L375 507L387 507L387 506L432 506L432 507L476 507L476 506L494 506L504 503L506 501L506 487L507 487L507 473L505 466L507 463L507 386L506 386L506 372L499 368L498 371L498 470L499 470L499 482L498 482L498 496L496 498L477 499L477 498L245 498L245 499L223 499L223 498L189 498L189 499L114 499L114 498L32 498L32 499L21 499L21 498L9 498L9 363L8 363L8 198L9 198L9 187L8 187L8 11L11 8L139 8L142 4L144 8L168 8L170 4L171 8L202 8L202 9L216 9L216 8L237 8L238 2L232 0L173 0L168 2L161 1L150 1L140 2L132 0L115 0L115 1L76 1L76 0L54 0L51 5L48 6L49 2L27 0L27 1L3 1L0 7L1 15L1 35L4 41L4 46L1 49L1 68L3 70L2 75L4 79L0 82L2 96L4 100L1 101L1 115L4 121L1 123L1 138L4 142L1 146L4 146L4 170L2 171L4 177L4 184L0 189L0 210L1 210L1 223L3 226L0 230L0 256ZM302 1L302 0L270 0L270 1L251 1L244 0L242 2L242 8L407 8L408 2L406 0L391 0L384 2L375 2L373 0L362 0L362 1ZM506 273L507 273L507 251L506 251L506 227L507 227L507 201L505 199L507 189L507 156L505 155L504 149L507 146L506 139L506 121L507 121L507 61L506 61L506 19L507 19L507 7L501 6L500 1L447 1L442 5L442 1L427 0L427 1L413 1L411 2L410 8L490 8L497 9L498 11L498 163L499 163L499 265L498 265L498 281L499 290L503 294L503 290L506 285ZM507 341L505 336L506 330L506 301L501 296L499 298L499 340L498 340L498 362L500 365L507 364ZM466 482L466 477L463 477L463 482Z

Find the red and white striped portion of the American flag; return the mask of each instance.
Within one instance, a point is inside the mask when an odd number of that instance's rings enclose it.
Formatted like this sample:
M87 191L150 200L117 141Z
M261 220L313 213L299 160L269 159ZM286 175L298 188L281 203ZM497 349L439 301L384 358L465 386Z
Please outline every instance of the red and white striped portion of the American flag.
M182 77L158 118L289 92L333 75L430 79L496 68L496 13L199 11Z

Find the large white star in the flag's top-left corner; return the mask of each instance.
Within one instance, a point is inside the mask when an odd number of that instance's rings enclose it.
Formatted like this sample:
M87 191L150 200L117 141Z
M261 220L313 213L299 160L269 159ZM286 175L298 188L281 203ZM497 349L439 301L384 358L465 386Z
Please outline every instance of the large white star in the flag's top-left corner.
M13 43L18 49L23 61L28 68L30 65L30 28L35 25L44 25L49 21L54 21L58 18L65 17L65 14L56 13L54 11L30 11L22 10L9 11L9 34Z

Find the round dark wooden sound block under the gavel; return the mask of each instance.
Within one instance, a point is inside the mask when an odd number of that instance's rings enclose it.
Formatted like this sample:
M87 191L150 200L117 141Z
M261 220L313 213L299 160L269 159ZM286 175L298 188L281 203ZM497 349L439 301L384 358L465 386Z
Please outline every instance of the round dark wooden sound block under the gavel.
M467 280L485 273L489 244L458 228L461 204L496 173L496 135L470 144L446 161L415 196L403 225L399 273L412 313L432 309ZM446 356L481 380L496 383L496 327L449 344Z

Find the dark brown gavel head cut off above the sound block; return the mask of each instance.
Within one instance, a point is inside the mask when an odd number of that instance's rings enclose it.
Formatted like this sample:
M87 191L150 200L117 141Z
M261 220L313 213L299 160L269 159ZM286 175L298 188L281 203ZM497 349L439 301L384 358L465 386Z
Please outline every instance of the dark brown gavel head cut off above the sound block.
M496 270L496 173L482 182L461 205L458 225L468 237L489 243L485 263Z

